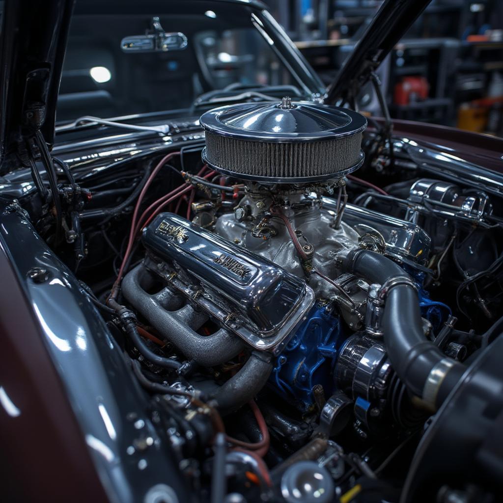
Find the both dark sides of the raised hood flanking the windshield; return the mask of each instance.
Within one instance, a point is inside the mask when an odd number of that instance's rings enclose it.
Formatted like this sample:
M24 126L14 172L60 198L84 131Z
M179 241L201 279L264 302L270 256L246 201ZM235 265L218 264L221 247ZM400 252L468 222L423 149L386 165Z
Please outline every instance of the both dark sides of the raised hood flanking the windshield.
M355 96L430 0L386 0L336 80L326 103ZM74 0L6 0L2 15L0 175L23 164L40 130L54 141L56 102Z

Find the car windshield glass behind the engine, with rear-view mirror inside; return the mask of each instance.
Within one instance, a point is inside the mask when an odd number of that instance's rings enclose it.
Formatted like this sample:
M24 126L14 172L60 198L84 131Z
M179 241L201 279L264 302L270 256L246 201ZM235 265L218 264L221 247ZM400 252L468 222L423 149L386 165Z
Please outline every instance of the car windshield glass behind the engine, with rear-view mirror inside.
M245 4L103 4L77 2L61 77L58 122L85 115L185 109L198 96L229 86L232 92L253 88L266 94L267 89L256 88L294 85L302 98L322 89L320 82L318 89L306 90L302 77L285 61L281 43L269 37L257 17L261 12ZM145 45L155 44L152 40L161 33L181 34L186 46L156 50ZM128 43L147 49L125 49Z

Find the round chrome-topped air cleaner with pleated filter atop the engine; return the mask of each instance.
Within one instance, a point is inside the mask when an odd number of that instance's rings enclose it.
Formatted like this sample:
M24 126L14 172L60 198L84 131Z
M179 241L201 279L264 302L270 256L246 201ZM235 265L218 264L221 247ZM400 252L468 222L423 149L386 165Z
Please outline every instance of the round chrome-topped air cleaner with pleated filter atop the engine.
M363 162L367 120L352 110L283 98L215 108L200 122L203 160L243 180L319 182L340 178Z

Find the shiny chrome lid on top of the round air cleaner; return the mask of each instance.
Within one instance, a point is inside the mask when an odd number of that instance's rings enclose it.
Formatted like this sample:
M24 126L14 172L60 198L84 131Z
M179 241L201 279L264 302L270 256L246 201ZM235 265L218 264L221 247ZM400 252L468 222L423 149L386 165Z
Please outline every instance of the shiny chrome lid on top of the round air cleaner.
M367 120L352 110L310 102L228 105L201 117L206 131L248 141L309 142L357 134Z

